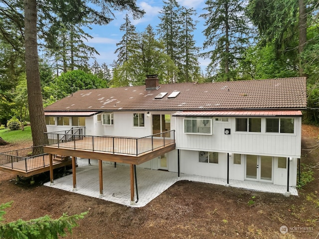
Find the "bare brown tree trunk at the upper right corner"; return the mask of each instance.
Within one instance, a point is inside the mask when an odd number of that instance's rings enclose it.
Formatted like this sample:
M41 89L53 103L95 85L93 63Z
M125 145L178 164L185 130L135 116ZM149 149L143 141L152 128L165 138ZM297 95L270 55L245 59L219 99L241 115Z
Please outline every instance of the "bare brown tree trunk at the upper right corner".
M307 42L307 9L304 0L299 2L299 75L304 76L301 54L304 52L304 47Z

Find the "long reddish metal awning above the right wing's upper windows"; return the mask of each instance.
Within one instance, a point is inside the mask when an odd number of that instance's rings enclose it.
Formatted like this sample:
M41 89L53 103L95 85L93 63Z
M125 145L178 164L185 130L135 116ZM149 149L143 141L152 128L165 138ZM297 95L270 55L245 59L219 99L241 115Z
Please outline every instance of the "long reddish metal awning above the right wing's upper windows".
M302 116L301 110L225 110L225 111L178 111L172 116Z

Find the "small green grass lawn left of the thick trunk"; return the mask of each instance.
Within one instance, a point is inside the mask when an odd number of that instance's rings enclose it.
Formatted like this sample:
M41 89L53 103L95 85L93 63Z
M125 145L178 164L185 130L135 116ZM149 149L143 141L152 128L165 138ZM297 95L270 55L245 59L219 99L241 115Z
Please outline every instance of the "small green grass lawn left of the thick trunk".
M23 131L22 130L1 129L0 130L0 137L9 143L30 141L30 140L32 140L31 126L25 126Z

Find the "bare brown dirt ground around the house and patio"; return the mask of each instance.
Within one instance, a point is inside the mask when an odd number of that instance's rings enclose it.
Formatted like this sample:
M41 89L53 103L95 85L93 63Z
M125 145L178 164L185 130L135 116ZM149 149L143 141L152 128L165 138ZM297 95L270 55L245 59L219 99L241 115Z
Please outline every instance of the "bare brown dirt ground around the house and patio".
M302 163L319 161L319 128L303 125ZM31 142L1 146L0 152ZM144 208L130 208L43 186L0 171L0 204L14 201L4 222L88 211L68 239L319 239L319 171L315 181L285 197L181 181ZM280 233L287 226L289 233Z

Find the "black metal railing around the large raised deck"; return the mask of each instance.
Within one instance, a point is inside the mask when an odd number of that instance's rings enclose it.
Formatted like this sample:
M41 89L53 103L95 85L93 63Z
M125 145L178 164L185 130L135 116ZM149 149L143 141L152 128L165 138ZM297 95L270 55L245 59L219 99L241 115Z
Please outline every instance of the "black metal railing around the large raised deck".
M74 150L89 150L113 154L136 155L153 151L167 144L175 143L175 130L141 138L92 136L77 134L74 137L65 132L48 132L49 146ZM61 141L61 139L68 139Z

